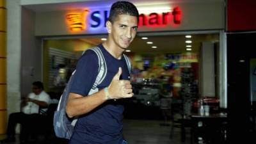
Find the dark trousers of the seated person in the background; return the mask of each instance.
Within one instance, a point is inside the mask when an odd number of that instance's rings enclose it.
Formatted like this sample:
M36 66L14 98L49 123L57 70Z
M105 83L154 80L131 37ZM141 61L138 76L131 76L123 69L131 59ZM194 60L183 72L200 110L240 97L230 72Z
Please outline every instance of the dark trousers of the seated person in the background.
M15 127L20 124L20 141L28 140L29 134L33 134L36 129L35 122L40 119L39 114L27 115L22 112L11 113L8 120L7 136L8 138L15 138Z

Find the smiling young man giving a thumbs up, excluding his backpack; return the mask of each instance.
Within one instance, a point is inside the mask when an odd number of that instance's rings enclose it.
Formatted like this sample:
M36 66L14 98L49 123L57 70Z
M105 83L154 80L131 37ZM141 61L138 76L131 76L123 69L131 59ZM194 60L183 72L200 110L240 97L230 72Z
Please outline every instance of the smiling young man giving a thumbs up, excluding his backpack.
M68 96L66 111L70 118L79 116L70 144L126 143L122 135L124 106L118 99L132 97L129 70L123 52L136 36L139 13L127 1L111 6L106 22L108 40L98 45L108 72L97 88L88 95L98 74L98 58L88 50L79 59Z

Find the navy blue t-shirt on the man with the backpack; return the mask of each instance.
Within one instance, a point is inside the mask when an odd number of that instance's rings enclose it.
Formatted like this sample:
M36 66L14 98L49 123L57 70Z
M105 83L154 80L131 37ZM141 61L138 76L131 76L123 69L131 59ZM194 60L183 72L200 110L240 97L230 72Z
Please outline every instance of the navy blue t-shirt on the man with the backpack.
M102 44L98 45L106 60L108 72L106 78L97 88L101 90L109 86L113 77L122 67L120 79L129 79L129 70L124 56L121 60L114 58ZM86 97L98 74L98 58L94 51L87 50L79 59L70 92ZM90 97L90 96L88 96ZM119 144L124 140L123 131L124 106L119 100L108 100L93 109L90 113L79 117L70 139L70 144Z

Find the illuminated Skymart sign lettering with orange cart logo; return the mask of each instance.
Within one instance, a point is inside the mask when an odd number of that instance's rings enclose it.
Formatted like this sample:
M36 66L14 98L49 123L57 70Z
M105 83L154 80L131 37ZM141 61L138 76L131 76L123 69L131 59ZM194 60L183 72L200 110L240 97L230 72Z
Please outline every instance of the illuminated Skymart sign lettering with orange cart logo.
M67 13L66 19L71 31L106 31L106 21L108 20L108 10L84 10L84 12ZM144 27L163 27L168 25L180 24L181 11L176 7L172 12L163 13L141 13L139 26Z

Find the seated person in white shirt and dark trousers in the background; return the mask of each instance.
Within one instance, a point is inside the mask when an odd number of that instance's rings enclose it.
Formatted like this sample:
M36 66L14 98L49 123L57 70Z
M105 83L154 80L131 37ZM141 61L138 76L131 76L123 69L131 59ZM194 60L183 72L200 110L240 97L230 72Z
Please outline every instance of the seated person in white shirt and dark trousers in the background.
M32 87L33 92L29 93L28 97L24 99L26 106L22 108L21 112L11 113L8 120L7 138L2 142L15 141L15 127L19 123L21 126L20 141L26 138L29 131L29 122L44 115L47 107L51 102L49 95L44 92L44 85L40 81L34 82Z

